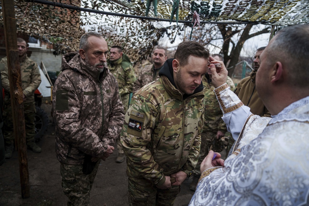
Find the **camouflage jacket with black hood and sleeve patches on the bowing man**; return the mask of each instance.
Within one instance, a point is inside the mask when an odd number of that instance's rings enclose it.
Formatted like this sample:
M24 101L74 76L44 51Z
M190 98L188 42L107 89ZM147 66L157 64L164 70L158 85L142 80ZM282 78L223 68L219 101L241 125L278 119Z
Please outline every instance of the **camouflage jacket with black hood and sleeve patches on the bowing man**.
M157 81L133 95L121 131L129 178L158 185L165 182L164 175L194 170L204 118L203 85L183 97L170 73L170 60Z

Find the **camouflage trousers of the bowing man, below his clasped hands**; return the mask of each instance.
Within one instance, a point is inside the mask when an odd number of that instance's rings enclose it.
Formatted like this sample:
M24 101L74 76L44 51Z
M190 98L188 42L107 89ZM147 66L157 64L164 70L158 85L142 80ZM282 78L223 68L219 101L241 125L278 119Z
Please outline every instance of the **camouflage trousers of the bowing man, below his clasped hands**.
M128 174L128 170L127 170ZM159 189L144 178L134 178L128 174L128 200L130 206L173 206L180 186Z

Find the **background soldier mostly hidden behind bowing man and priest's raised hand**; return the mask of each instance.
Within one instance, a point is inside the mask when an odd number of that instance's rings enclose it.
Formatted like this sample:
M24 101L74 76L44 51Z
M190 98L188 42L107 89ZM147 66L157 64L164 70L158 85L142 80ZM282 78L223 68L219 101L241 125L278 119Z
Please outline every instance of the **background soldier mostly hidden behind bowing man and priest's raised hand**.
M224 61L221 54L213 54L211 57L219 61ZM226 83L231 87L231 90L235 89L235 84L229 76L227 76ZM222 151L223 142L221 141L221 137L224 137L225 133L227 132L226 125L221 119L223 116L222 111L220 109L216 95L214 94L215 87L211 82L210 69L207 70L207 74L205 74L203 77L203 85L203 92L205 93L205 119L203 132L201 134L201 151L195 170L193 170L193 180L190 184L190 190L193 191L195 191L196 185L201 176L200 166L203 159L206 157L210 149L214 150L215 152ZM214 144L214 142L216 144ZM222 147L219 147L220 142L222 143Z

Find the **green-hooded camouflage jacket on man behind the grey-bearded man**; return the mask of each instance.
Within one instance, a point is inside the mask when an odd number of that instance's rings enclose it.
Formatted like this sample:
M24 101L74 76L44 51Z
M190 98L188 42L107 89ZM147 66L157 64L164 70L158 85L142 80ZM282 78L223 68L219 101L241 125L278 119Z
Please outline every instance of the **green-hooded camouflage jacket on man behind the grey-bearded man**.
M124 110L127 111L129 96L133 92L133 84L136 81L134 69L129 61L129 57L123 54L122 58L116 61L108 60L108 69L117 79L121 101Z

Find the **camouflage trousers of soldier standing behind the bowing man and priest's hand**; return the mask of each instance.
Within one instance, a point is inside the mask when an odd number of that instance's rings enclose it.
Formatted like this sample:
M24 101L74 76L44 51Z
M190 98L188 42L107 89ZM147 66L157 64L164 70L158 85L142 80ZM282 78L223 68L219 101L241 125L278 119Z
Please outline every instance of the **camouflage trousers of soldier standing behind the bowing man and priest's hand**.
M203 162L204 158L207 156L210 147L216 138L217 133L211 131L203 131L201 133L201 150L200 154L198 155L197 165L195 166L195 170L193 170L193 174L201 175L201 163Z

